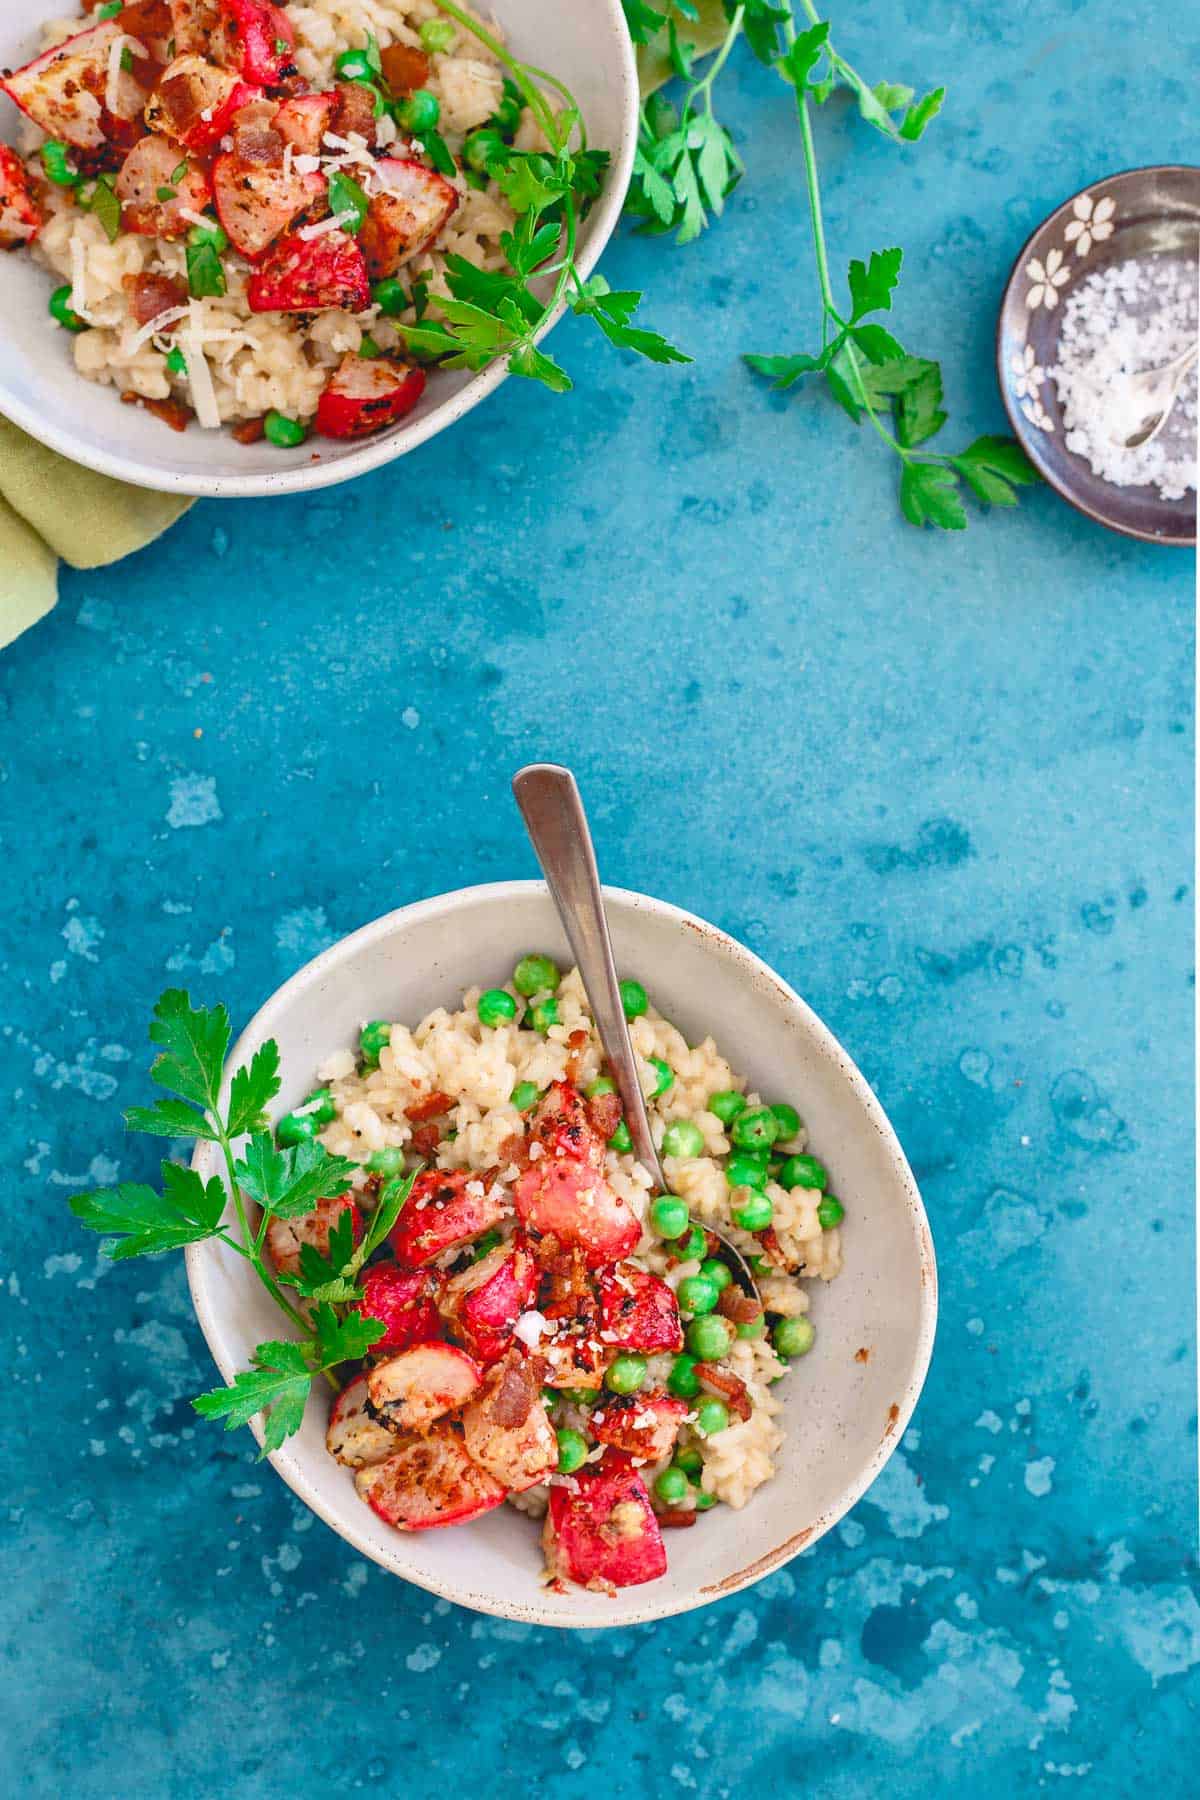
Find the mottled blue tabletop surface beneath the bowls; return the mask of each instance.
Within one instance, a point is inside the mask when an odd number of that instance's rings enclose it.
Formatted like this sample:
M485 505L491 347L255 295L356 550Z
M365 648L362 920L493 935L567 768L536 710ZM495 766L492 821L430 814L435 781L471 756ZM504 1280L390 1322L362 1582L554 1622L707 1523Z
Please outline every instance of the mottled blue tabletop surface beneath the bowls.
M835 256L907 247L896 328L943 351L963 441L1000 425L1029 227L1193 148L1195 32L1159 18L885 0L840 34L952 90L919 155L847 117L820 142ZM353 488L198 506L0 666L5 1789L1189 1786L1191 569L1047 493L918 536L846 419L748 382L736 351L804 346L811 274L786 103L739 67L725 223L606 257L694 369L563 328L574 396L509 382ZM63 1206L151 1166L119 1107L167 981L241 1022L363 920L533 873L534 756L579 770L613 882L829 1021L943 1274L914 1429L838 1532L574 1640L403 1588L194 1424L182 1269L103 1264Z

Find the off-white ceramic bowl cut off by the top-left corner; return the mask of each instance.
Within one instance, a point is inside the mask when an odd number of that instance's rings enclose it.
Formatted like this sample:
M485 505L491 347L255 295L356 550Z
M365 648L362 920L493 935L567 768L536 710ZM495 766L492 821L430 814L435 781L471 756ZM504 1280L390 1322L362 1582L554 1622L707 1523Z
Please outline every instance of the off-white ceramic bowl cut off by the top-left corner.
M29 61L40 49L40 27L74 11L76 0L4 0L0 67ZM518 56L567 83L583 108L588 142L612 155L604 193L579 239L579 266L587 275L617 223L637 144L637 68L621 4L489 0L484 11L495 11ZM0 95L0 140L13 142L14 130L16 108ZM122 407L115 387L76 374L68 338L47 317L52 288L47 270L18 250L2 256L2 270L0 412L74 463L139 488L225 499L327 488L390 463L453 425L507 373L504 364L493 364L480 374L434 374L403 423L362 443L311 437L295 450L275 450L266 443L237 445L228 432L194 425L176 434L140 407Z

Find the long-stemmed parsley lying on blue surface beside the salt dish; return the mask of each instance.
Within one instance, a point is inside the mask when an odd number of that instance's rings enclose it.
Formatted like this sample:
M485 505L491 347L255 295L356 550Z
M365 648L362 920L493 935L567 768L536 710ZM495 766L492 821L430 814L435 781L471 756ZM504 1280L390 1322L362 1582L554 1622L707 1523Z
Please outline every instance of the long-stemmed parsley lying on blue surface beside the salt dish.
M820 297L819 349L748 355L747 364L768 376L775 389L819 376L856 425L869 423L900 459L900 506L910 524L961 531L966 509L959 482L990 506L1015 506L1016 488L1038 477L1011 437L979 437L959 454L921 448L946 423L941 367L927 356L910 355L873 317L892 308L903 252L887 248L873 252L865 263L853 259L847 270L849 304L837 301L829 277L811 104L824 106L833 94L847 92L876 131L894 144L916 144L941 112L945 88L918 97L903 83L867 83L835 49L829 22L819 18L811 0L802 0L810 20L802 32L790 0L779 5L774 0L622 4L642 58L658 58L664 70L685 83L678 108L662 94L642 106L628 198L628 211L640 229L675 232L678 243L689 243L723 211L741 178L741 157L714 115L712 88L736 40L745 38L754 56L793 92ZM714 43L703 72L698 70L700 43Z

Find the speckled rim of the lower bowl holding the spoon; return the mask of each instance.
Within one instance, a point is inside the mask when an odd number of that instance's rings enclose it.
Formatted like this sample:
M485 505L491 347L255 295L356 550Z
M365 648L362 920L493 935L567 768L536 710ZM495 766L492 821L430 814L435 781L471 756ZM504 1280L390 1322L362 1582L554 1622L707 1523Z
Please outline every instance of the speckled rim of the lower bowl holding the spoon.
M281 988L272 994L272 997L259 1008L250 1024L245 1028L234 1049L230 1051L227 1062L228 1073L245 1062L246 1057L264 1037L270 1037L275 1024L282 1013L286 1013L288 1004L293 995L313 983L320 983L329 976L335 976L338 967L353 958L363 945L372 943L380 938L387 938L394 932L405 931L408 925L416 925L423 918L435 914L453 914L462 907L479 905L479 902L495 902L497 907L504 907L518 896L531 893L545 893L543 882L488 882L477 887L457 887L446 895L435 895L430 900L416 900L412 905L398 907L394 913L385 913L381 918L372 920L369 925L362 925L349 936L340 938L338 943L329 945L320 956L306 963L295 976L291 976ZM315 1512L326 1525L329 1525L340 1537L354 1546L362 1555L371 1557L381 1568L390 1570L403 1580L412 1582L417 1588L425 1588L428 1593L435 1593L439 1598L452 1600L459 1606L470 1606L479 1613L491 1613L498 1618L513 1618L522 1624L533 1625L556 1625L567 1631L579 1629L599 1629L615 1625L642 1625L658 1618L671 1618L676 1613L689 1613L694 1607L709 1606L714 1600L723 1600L732 1593L739 1593L743 1588L750 1588L754 1582L763 1580L774 1570L783 1568L802 1550L811 1548L831 1526L842 1519L856 1501L867 1492L871 1483L876 1480L883 1465L887 1463L892 1451L898 1447L905 1427L912 1417L912 1409L918 1404L921 1388L925 1386L925 1377L928 1373L930 1355L934 1352L934 1334L937 1327L937 1262L934 1256L934 1238L930 1235L928 1219L925 1215L925 1206L918 1192L916 1179L896 1132L891 1127L883 1107L871 1091L865 1076L858 1071L849 1055L842 1049L838 1040L828 1030L826 1024L817 1017L817 1013L808 1006L801 995L788 986L788 983L775 974L754 950L748 950L729 932L721 931L718 925L711 925L707 920L698 918L694 913L685 913L682 907L671 905L667 900L655 900L649 895L635 893L628 887L604 887L604 898L628 907L633 913L644 911L657 914L664 920L675 920L685 931L696 932L702 940L711 943L716 950L727 956L739 970L745 972L748 985L766 986L775 992L779 999L784 1001L786 1008L795 1013L802 1030L817 1049L833 1064L846 1087L851 1091L856 1103L862 1107L867 1121L878 1132L883 1148L887 1152L889 1163L892 1165L892 1174L896 1175L898 1190L903 1193L909 1226L912 1229L918 1246L919 1262L919 1328L918 1341L912 1357L910 1375L894 1404L892 1417L882 1436L874 1445L871 1456L865 1458L858 1474L846 1483L837 1501L820 1512L815 1519L808 1521L799 1532L790 1534L784 1543L766 1555L759 1557L756 1562L739 1570L736 1577L723 1580L712 1588L696 1588L693 1595L673 1602L655 1602L653 1584L648 1588L624 1589L612 1604L612 1609L603 1616L588 1620L565 1620L552 1615L551 1611L538 1606L538 1589L531 1584L531 1598L525 1604L520 1602L502 1602L488 1593L468 1593L462 1588L453 1588L444 1582L430 1580L421 1571L414 1570L403 1553L405 1539L401 1534L396 1535L396 1546L389 1546L387 1552L380 1553L378 1546L372 1544L365 1532L356 1530L354 1510L347 1507L345 1514L338 1514L329 1507L320 1505L313 1494L304 1471L300 1469L295 1456L290 1454L284 1445L268 1456L268 1462L275 1467L275 1472L282 1476L288 1487L297 1494L304 1505ZM200 1159L203 1147L196 1148L196 1157ZM191 1289L193 1305L196 1309L196 1318L200 1328L205 1334L205 1341L214 1354L214 1361L225 1381L232 1381L237 1364L216 1354L214 1343L218 1341L218 1327L212 1312L209 1309L205 1285L200 1278L200 1253L203 1246L191 1246L185 1251L187 1258L187 1282ZM252 1422L250 1427L263 1442L263 1427L259 1420ZM628 1598L626 1598L628 1595Z

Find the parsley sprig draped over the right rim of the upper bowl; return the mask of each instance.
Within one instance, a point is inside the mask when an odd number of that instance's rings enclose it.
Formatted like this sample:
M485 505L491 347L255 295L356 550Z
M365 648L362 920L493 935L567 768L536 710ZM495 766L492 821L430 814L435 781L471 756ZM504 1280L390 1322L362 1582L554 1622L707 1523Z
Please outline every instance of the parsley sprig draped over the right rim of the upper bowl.
M504 144L488 157L486 175L516 214L515 229L500 238L507 270L480 270L462 256L446 256L450 292L434 297L441 319L396 320L408 349L448 369L484 369L506 356L513 374L543 382L561 394L572 385L570 376L534 340L567 304L581 319L594 320L619 349L649 362L691 362L657 331L631 322L640 293L613 293L603 275L585 281L579 272L579 223L601 191L608 151L588 149L583 113L570 92L554 76L511 56L455 0L435 4L507 70L549 149L518 151ZM563 103L558 110L547 88Z

